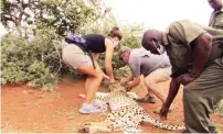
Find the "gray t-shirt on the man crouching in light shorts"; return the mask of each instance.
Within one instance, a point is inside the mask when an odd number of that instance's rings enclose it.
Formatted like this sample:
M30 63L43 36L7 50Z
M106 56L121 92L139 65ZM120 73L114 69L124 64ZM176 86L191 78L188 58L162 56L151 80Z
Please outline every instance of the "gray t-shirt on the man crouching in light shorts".
M167 53L162 55L153 55L145 48L131 49L128 65L134 76L148 76L158 68L170 67L170 60Z

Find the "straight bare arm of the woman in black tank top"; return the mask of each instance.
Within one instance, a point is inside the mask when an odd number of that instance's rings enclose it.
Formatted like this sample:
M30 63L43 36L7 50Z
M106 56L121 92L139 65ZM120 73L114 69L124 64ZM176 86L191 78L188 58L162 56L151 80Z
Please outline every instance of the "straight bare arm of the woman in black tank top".
M110 81L114 82L115 79L114 79L113 66L112 66L113 53L114 53L113 42L108 38L105 38L105 47L106 47L105 70L106 70L106 74L110 77Z

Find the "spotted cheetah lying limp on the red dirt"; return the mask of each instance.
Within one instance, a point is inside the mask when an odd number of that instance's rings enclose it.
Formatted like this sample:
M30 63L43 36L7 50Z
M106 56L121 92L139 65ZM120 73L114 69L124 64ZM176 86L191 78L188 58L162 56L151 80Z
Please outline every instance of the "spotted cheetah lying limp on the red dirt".
M138 133L141 132L140 123L150 123L159 129L169 131L184 131L183 125L169 125L161 123L158 120L152 119L145 112L132 98L129 97L129 92L126 92L125 88L120 89L120 85L113 86L113 90L109 93L97 92L95 101L103 108L109 104L112 113L109 113L103 122L89 122L86 123L79 132L112 132L123 131L124 133ZM117 90L118 89L118 90ZM132 96L132 94L130 94Z

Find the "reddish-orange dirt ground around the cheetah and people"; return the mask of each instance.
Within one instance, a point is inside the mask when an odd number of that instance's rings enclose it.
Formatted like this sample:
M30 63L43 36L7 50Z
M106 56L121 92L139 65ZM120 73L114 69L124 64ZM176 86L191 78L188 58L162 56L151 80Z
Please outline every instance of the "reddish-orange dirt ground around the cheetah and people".
M168 89L169 82L160 83ZM85 93L84 79L63 79L53 92L45 92L28 88L26 86L3 86L1 89L1 131L22 133L75 133L86 122L103 121L106 113L84 115L78 108L84 99L78 94ZM166 123L183 124L182 90L174 99L176 109L169 113ZM157 99L155 104L141 103L145 110L155 119L159 115L152 113L161 102ZM223 119L216 114L211 115L219 130L223 130ZM141 125L142 132L171 133L149 124Z

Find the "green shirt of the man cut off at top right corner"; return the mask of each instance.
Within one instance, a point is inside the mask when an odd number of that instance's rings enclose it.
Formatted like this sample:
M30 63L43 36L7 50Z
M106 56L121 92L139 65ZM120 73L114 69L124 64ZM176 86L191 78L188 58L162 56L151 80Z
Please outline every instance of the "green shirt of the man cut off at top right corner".
M209 26L223 30L223 8L220 11L214 11L212 13Z

